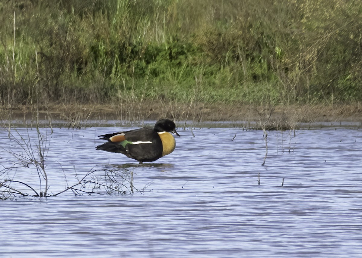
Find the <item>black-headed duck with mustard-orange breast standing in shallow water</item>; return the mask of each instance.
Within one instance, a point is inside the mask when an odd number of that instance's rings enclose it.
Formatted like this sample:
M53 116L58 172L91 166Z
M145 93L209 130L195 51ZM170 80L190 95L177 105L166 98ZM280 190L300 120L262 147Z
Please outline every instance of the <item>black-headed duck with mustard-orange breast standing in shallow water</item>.
M174 151L176 141L171 133L180 136L173 121L161 119L153 129L144 127L100 135L98 137L107 142L98 145L96 150L122 153L140 164L153 162Z

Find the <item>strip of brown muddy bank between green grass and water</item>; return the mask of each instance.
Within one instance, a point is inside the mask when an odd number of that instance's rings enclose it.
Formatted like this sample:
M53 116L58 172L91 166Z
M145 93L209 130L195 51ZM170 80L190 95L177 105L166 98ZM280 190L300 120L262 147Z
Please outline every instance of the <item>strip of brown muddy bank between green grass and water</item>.
M175 121L254 121L269 124L311 122L362 122L362 104L253 106L202 103L53 104L41 107L1 107L2 120L40 119L64 121L143 121L170 118Z

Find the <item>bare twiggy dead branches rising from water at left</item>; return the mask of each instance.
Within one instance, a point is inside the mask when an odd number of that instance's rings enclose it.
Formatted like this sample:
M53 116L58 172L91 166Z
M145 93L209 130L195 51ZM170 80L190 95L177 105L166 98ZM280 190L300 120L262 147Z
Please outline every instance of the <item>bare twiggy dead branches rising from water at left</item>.
M143 189L136 189L133 184L133 171L126 168L93 168L84 176L76 173L76 182L67 180L63 169L66 188L57 193L49 192L50 184L46 169L47 154L50 147L50 135L42 133L36 127L36 136L31 136L26 127L25 134L15 127L7 128L11 146L0 145L0 199L16 197L55 197L68 191L75 195L82 194L126 194L134 191L142 193ZM24 182L16 178L18 169L34 168L37 182ZM35 173L36 172L36 173Z

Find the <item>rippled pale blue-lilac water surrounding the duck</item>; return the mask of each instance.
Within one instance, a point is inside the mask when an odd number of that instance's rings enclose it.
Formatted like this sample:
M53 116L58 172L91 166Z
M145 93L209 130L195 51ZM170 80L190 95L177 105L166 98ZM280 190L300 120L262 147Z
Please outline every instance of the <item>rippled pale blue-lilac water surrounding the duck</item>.
M269 132L262 166L262 131L179 129L172 154L139 165L94 150L96 136L118 129L54 128L49 191L125 163L144 191L125 181L127 194L0 201L0 257L362 257L360 130ZM16 147L6 130L0 138ZM35 173L13 178L38 187Z

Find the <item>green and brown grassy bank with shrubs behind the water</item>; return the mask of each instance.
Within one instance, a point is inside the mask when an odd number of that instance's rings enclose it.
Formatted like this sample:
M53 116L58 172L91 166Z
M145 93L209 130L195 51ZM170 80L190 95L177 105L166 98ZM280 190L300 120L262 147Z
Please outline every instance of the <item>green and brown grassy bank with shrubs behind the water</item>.
M0 40L3 106L362 100L353 0L3 1Z

